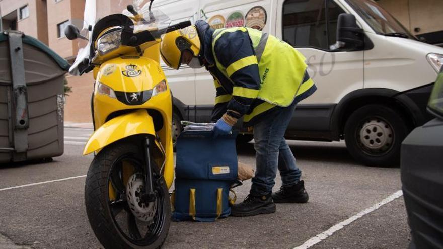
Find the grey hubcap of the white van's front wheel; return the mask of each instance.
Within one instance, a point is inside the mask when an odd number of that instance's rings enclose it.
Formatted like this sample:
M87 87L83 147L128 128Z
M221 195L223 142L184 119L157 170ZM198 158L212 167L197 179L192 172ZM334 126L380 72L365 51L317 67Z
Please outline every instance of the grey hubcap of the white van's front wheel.
M391 125L381 119L364 123L359 132L360 143L368 152L384 153L392 146L394 138Z

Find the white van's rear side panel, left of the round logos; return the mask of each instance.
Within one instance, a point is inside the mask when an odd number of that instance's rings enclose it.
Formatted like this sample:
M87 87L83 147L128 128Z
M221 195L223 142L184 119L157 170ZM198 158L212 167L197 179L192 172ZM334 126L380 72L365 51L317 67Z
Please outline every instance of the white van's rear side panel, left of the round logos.
M155 2L156 3L156 2ZM156 4L162 12L171 18L171 23L190 20L194 23L198 18L199 0L166 0ZM195 121L195 69L181 65L180 70L168 67L162 61L162 69L168 79L174 104L181 111L183 119ZM191 111L190 111L191 110Z

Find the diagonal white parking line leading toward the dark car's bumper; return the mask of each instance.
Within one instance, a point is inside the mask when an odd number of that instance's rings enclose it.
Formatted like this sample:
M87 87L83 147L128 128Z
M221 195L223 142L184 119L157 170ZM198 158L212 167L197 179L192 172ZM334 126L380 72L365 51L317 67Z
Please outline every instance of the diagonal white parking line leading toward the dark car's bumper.
M328 230L318 234L315 237L310 238L309 240L307 240L305 243L303 243L300 246L294 247L294 249L307 249L312 247L315 244L320 243L322 240L325 240L327 237L331 236L334 232L341 230L343 227L349 225L350 223L356 221L357 219L363 217L364 215L371 213L374 210L377 210L379 207L388 204L390 202L392 202L393 200L399 198L400 196L403 195L403 192L401 190L395 192L394 194L390 195L389 197L387 197L386 199L384 199L383 201L375 204L374 206L367 208L361 212L359 212L358 214L349 217L346 220L343 220L342 222L331 226L331 228L329 228Z

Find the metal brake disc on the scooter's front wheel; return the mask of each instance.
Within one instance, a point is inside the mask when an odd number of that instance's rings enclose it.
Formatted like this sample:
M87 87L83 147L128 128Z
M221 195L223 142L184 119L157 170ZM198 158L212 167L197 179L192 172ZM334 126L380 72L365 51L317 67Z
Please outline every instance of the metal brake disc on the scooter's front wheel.
M156 201L149 202L146 205L141 200L143 189L143 175L139 173L133 174L129 178L126 185L126 197L129 204L129 209L138 220L152 224L157 211L157 199Z

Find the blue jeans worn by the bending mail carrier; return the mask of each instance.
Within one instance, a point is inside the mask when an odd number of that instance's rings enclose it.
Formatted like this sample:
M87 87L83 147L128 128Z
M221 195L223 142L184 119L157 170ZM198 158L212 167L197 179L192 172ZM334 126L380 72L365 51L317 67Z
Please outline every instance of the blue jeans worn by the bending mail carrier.
M283 137L295 107L294 102L254 125L257 169L252 178L251 195L266 195L272 191L277 168L283 185L300 181L302 171L297 168L296 158Z

